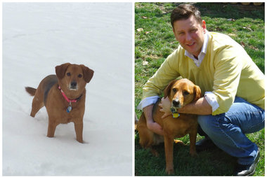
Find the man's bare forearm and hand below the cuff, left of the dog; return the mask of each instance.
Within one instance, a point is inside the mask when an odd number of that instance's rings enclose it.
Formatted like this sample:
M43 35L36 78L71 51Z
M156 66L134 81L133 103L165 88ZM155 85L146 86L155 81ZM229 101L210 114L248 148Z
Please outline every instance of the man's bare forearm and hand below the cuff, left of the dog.
M154 104L151 104L150 106L146 106L145 108L143 108L143 112L145 114L145 119L146 119L146 125L148 126L148 129L150 129L152 132L163 136L162 127L160 127L160 125L157 124L157 122L154 122L153 120L153 115L152 115L153 106Z

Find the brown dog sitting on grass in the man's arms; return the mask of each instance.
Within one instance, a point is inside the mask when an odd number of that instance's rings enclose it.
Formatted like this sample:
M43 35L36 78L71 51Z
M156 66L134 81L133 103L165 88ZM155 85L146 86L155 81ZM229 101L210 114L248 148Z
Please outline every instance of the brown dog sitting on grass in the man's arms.
M176 108L182 108L192 101L196 101L200 98L200 95L200 87L193 84L188 79L174 80L169 83L164 90L164 97L168 97L172 107ZM160 99L153 107L153 119L162 127L164 131L164 139L162 139L162 136L154 134L148 129L145 115L143 113L137 123L137 130L140 138L139 142L143 148L152 148L152 146L155 146L164 140L166 172L167 174L174 174L174 138L181 138L186 134L189 134L190 155L196 155L195 142L197 138L197 116L181 113L178 118L173 118L172 115L169 115L167 118L162 119L164 113L159 111L159 102Z

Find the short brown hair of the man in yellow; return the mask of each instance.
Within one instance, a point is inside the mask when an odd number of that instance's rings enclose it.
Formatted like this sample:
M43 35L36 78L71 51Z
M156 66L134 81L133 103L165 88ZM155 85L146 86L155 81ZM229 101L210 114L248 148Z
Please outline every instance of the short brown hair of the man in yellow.
M183 3L179 5L177 8L174 8L171 13L171 26L174 27L174 22L177 20L187 20L189 17L193 15L197 22L202 24L202 18L200 14L200 10L195 6L190 4Z

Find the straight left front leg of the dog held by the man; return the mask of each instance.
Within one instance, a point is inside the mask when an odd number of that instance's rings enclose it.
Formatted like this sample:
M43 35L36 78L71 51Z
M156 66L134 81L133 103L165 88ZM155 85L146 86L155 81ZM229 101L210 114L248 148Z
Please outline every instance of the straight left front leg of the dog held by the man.
M174 174L174 137L164 133L164 148L166 160L166 173Z

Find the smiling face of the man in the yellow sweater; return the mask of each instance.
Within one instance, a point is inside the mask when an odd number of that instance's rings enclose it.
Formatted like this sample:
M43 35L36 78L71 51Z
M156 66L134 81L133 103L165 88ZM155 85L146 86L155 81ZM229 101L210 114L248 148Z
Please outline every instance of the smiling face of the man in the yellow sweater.
M173 31L180 45L197 57L204 43L204 29L206 29L206 22L203 20L202 24L200 24L191 15L187 20L177 20L174 22Z

